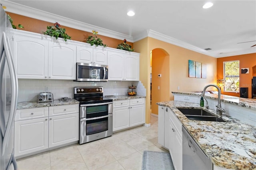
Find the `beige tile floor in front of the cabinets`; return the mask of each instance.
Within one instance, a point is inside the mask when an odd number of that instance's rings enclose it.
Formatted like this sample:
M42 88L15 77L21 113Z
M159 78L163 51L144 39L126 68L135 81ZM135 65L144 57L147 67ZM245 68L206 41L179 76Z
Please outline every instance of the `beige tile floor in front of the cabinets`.
M86 144L73 144L21 158L19 170L141 170L144 150L168 152L158 142L158 118Z

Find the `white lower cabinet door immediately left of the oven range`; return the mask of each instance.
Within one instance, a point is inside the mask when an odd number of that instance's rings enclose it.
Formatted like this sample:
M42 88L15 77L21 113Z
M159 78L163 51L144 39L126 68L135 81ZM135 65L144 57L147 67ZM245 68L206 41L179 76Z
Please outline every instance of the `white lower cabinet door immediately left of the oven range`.
M49 148L79 140L79 113L49 117Z

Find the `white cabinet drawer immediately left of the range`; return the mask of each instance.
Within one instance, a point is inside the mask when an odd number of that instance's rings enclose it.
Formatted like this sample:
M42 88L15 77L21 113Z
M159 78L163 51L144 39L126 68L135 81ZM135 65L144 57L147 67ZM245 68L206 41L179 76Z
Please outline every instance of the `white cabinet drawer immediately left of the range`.
M78 113L78 112L79 112L79 104L49 107L49 116L66 115L66 114Z

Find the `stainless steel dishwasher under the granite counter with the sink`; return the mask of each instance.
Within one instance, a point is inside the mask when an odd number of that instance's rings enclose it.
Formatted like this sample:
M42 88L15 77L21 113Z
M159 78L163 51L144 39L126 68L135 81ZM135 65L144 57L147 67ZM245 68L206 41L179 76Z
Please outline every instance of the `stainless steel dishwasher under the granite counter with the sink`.
M213 164L182 126L182 169L183 170L213 170Z

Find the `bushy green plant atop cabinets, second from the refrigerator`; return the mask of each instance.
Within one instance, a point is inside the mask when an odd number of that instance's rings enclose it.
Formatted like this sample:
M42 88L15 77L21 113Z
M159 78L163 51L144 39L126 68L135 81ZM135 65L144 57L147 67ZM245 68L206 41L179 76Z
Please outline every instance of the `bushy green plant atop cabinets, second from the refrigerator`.
M64 38L64 41L66 42L67 40L70 40L71 37L68 36L68 34L65 33L66 29L65 28L60 28L60 24L56 22L54 26L47 26L46 32L43 32L43 34L55 37L56 40L58 38Z

